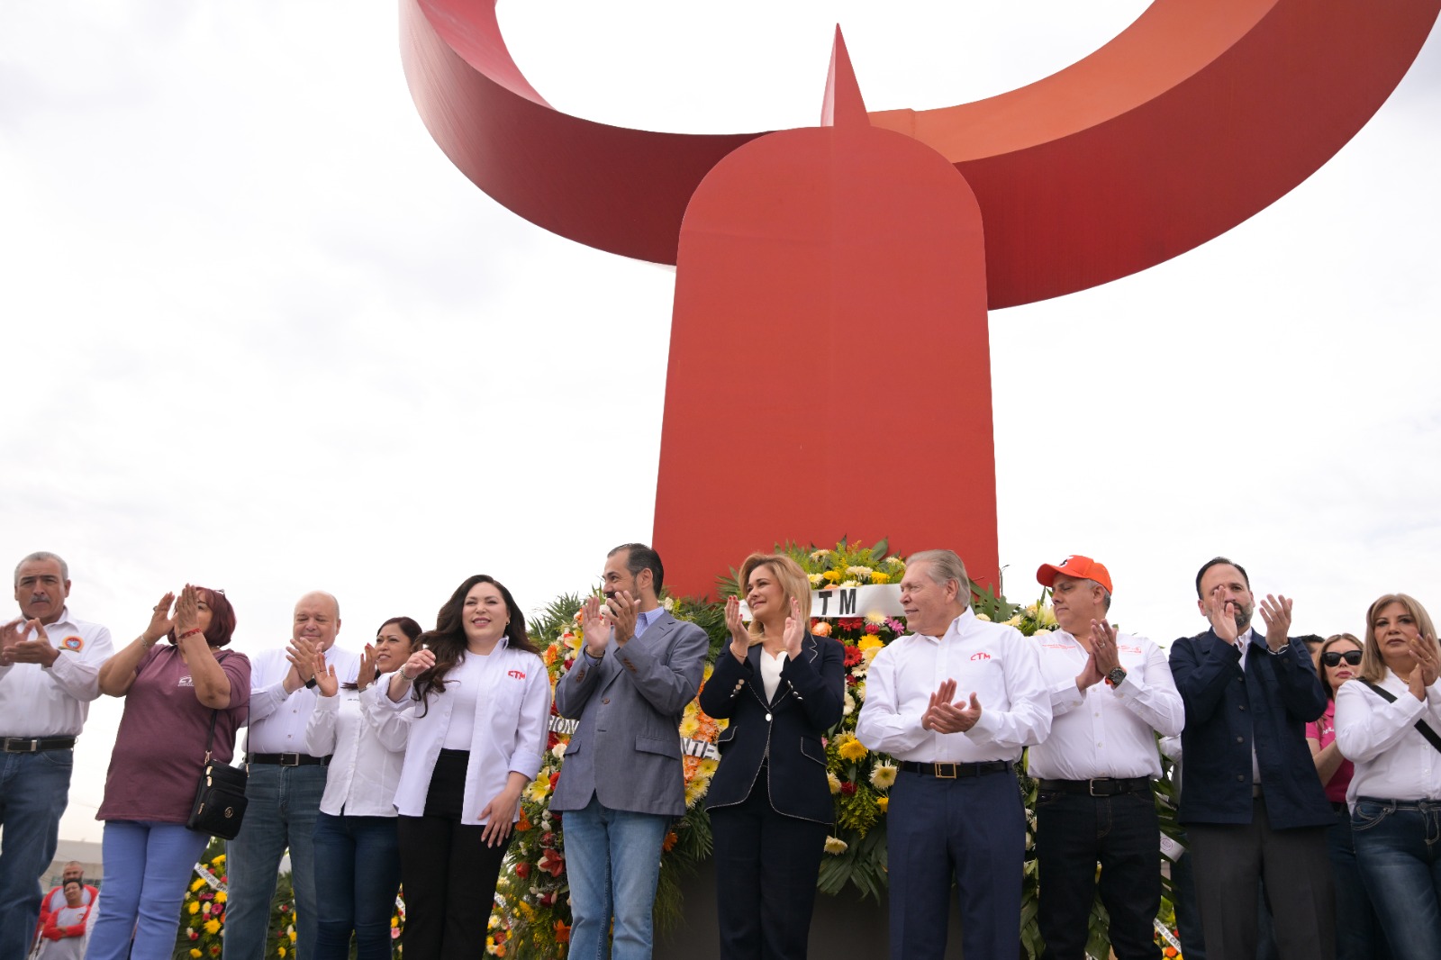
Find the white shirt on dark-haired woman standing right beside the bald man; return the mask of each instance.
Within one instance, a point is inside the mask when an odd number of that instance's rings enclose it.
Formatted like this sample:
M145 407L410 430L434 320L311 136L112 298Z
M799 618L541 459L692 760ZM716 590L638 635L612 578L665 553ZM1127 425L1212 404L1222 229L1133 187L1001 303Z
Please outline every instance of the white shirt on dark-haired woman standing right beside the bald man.
M333 817L395 816L411 714L380 702L389 683L385 675L363 690L316 696L305 751L311 757L331 755L320 809Z

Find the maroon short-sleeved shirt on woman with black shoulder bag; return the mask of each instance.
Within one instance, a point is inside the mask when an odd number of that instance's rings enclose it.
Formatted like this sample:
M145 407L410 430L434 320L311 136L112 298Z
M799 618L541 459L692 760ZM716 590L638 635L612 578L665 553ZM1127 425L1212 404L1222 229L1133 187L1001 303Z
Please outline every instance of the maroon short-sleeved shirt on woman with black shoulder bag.
M216 760L235 755L235 731L244 722L251 693L251 662L244 653L216 650L231 680L229 709L215 721ZM195 787L210 732L210 708L195 695L190 667L180 650L156 644L135 670L125 695L115 750L105 774L105 800L97 820L184 823L195 806Z

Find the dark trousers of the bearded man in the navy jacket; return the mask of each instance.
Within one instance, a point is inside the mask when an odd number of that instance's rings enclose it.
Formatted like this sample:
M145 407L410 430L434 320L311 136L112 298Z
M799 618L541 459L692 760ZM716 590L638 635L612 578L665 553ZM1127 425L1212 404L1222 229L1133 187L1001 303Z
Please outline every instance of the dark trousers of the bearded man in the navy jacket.
M1251 823L1186 825L1208 957L1257 956L1264 876L1281 960L1333 960L1336 892L1326 830L1272 829L1261 797L1251 803Z

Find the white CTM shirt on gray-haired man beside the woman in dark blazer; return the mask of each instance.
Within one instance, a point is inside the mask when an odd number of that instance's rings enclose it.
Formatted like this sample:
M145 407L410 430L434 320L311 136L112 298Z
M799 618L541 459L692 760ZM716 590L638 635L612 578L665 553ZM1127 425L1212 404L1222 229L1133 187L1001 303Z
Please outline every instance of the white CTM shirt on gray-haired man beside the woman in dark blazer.
M980 719L963 734L921 728L931 695L947 679L955 680L955 702L970 703L974 692L981 705ZM1014 761L1049 731L1036 644L970 610L944 637L912 633L882 647L866 670L866 702L856 721L856 738L869 750L919 763Z

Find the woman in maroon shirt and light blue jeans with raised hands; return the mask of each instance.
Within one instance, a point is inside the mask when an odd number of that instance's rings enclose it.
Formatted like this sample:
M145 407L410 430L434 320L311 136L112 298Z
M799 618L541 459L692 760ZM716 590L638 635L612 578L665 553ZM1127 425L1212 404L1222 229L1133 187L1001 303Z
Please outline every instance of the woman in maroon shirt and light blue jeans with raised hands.
M174 601L174 615L170 605ZM169 957L180 902L210 837L186 829L205 742L228 763L251 699L251 662L219 652L235 633L225 594L186 584L166 594L150 626L99 669L99 690L125 698L105 775L104 907L86 960ZM170 643L157 646L161 637ZM134 934L134 947L131 947Z

